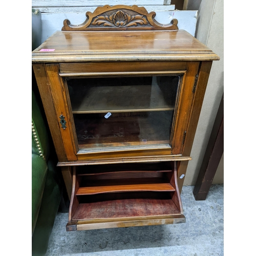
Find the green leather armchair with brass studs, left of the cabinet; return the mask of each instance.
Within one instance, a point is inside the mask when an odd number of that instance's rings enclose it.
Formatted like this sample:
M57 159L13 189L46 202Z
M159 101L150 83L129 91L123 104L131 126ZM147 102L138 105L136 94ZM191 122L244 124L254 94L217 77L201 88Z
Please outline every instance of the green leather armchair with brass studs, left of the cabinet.
M35 16L34 23L33 15L39 15ZM40 12L35 14L32 10L33 35L33 26L40 30L40 19ZM38 37L34 37L34 41L32 39L32 50L38 46L36 40ZM41 256L46 254L62 199L62 179L36 88L32 72L32 255Z

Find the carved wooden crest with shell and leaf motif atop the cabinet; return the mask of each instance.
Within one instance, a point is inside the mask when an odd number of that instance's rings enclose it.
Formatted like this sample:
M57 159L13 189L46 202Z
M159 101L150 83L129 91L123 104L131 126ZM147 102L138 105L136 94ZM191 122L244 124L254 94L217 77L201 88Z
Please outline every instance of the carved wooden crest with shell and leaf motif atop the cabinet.
M84 30L177 30L178 20L163 25L155 20L156 13L148 13L144 7L116 5L97 7L93 13L87 12L87 19L80 25L63 22L62 31Z

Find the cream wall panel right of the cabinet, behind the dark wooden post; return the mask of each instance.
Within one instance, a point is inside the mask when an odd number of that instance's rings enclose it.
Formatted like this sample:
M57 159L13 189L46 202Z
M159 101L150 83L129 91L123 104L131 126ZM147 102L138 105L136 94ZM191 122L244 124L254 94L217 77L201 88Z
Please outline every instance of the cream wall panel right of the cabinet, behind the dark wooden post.
M191 2L191 3L190 3ZM200 6L196 6L196 3ZM188 8L199 9L196 37L203 44L220 56L220 60L212 63L210 76L200 113L197 132L190 156L192 160L187 166L184 185L195 185L205 150L209 141L212 126L219 109L224 90L224 13L223 0L189 0ZM212 183L224 183L223 157L219 163L218 172Z

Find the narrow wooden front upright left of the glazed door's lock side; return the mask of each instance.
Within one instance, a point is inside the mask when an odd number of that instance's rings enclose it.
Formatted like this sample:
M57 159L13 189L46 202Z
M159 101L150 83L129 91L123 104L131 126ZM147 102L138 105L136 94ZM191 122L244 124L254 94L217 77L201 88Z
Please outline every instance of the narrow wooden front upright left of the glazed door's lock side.
M40 93L42 104L46 113L48 125L52 135L53 143L55 146L56 154L60 162L67 161L66 152L63 147L59 126L56 120L54 105L52 102L51 90L47 80L45 65L36 63L33 65L33 70L37 82L37 87Z

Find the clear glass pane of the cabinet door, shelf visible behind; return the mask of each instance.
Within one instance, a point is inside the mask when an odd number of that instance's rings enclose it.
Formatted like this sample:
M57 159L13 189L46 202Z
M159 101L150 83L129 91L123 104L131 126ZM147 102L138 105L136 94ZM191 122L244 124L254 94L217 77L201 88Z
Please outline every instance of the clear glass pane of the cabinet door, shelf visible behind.
M179 76L67 79L79 149L169 145Z

